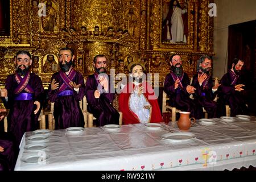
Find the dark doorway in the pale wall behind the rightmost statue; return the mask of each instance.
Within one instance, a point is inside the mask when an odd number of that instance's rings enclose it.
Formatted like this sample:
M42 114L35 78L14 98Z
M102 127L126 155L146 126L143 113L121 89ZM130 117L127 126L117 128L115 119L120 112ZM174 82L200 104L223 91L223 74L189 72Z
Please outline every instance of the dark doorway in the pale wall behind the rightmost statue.
M251 115L256 115L256 20L229 26L228 65L231 68L235 57L244 65L241 78L245 86L245 100Z

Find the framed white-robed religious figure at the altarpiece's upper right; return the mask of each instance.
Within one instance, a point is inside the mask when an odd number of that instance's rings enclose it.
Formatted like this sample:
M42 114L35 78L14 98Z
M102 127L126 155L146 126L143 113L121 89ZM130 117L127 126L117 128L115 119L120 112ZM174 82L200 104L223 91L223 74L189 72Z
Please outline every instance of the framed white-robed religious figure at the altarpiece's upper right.
M194 49L197 3L192 0L161 0L160 11L160 48Z

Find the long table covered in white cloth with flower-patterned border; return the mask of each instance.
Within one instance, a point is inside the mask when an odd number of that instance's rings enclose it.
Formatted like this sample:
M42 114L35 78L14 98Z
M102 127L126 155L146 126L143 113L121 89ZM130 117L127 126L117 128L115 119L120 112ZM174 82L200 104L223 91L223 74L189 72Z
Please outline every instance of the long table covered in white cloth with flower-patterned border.
M32 132L24 134L15 170L232 170L256 167L256 117L250 121L213 125L197 121L189 129L196 138L175 142L162 139L166 133L181 132L177 122L148 129L142 124L123 125L116 131L103 127L85 128L76 134L53 130L43 142L43 162L23 162L35 152L24 149Z

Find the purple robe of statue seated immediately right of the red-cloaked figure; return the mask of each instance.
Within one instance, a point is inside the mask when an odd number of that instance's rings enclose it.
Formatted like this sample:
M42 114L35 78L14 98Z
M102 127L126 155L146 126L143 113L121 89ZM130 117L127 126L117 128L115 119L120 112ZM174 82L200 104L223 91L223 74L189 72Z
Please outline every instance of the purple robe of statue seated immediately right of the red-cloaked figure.
M196 119L201 118L202 107L196 101L189 98L189 93L186 90L189 85L187 73L184 73L183 76L180 77L182 86L180 85L177 89L174 89L175 81L171 73L169 73L164 80L164 92L170 97L170 106L176 107L181 111L189 111L191 112L191 117L195 117Z

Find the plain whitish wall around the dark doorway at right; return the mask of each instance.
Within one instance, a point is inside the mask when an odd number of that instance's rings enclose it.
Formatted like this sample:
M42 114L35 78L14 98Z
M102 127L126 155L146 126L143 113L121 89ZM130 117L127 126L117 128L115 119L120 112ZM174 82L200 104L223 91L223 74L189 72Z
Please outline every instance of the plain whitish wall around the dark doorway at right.
M215 0L213 77L221 78L228 64L228 26L256 19L255 0Z

